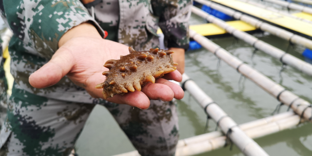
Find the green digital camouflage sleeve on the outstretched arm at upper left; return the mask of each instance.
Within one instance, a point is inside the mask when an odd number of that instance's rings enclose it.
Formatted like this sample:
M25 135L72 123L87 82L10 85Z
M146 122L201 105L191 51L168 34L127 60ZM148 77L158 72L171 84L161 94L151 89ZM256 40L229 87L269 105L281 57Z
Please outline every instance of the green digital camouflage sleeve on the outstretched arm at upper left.
M14 35L36 51L48 47L49 58L58 49L61 36L82 22L92 21L104 35L79 0L3 0L0 8Z

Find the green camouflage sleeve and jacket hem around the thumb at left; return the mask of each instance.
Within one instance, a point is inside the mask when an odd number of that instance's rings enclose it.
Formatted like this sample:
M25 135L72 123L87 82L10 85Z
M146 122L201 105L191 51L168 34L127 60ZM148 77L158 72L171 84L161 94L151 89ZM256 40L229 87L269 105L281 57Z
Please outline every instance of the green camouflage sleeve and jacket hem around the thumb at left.
M9 44L11 74L21 88L30 93L65 101L87 102L94 100L69 78L44 89L32 87L28 78L58 49L60 37L70 28L85 21L93 21L103 31L78 0L17 0L3 1L4 19L13 31Z

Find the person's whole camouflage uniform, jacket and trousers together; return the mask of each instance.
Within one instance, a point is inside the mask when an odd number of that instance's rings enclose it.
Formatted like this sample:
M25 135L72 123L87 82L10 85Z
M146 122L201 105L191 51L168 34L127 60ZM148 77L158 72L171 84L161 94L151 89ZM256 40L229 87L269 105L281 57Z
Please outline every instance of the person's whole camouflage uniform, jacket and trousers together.
M93 6L93 19L92 8L79 0L0 1L2 19L14 32L9 53L15 79L0 132L0 156L67 156L94 104L110 110L142 156L174 155L178 140L174 104L151 101L150 109L133 110L92 98L66 76L44 89L33 88L28 78L51 59L60 37L85 21L92 21L101 36L104 29L107 39L136 50L158 47L159 26L168 48L186 49L191 4L191 0L100 0Z

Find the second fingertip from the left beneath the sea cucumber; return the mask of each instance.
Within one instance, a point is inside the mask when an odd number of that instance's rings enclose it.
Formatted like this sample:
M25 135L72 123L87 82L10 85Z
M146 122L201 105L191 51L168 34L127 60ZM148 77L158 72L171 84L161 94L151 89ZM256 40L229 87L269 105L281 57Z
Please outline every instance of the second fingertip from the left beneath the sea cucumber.
M159 83L147 83L141 90L150 99L171 101L175 94L167 85Z

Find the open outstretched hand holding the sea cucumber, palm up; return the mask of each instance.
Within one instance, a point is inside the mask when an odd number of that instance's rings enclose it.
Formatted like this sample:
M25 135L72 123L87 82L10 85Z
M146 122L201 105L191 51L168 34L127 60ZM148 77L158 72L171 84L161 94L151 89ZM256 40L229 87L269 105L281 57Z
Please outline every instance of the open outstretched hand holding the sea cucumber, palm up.
M80 32L80 33L77 33ZM102 89L95 86L105 80L103 67L109 59L120 59L120 55L129 54L128 47L106 39L102 39L91 24L84 23L69 30L59 41L59 50L52 59L29 77L30 84L35 88L44 88L59 82L67 75L75 84L83 87L94 98L103 98ZM117 94L108 101L128 104L147 109L150 99L170 101L184 96L180 86L166 79L181 81L178 71L157 78L156 83L147 83L141 92L135 91L123 96Z

